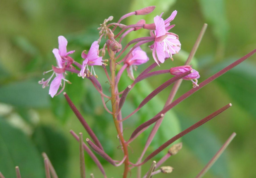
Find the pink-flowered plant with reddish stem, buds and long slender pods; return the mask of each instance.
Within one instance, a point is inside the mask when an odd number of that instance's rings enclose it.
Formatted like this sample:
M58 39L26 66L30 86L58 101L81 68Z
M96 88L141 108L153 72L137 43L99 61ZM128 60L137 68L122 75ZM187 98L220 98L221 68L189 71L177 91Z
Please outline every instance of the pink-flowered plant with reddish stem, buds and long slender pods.
M152 142L157 130L159 129L159 126L163 121L166 112L171 110L175 105L177 105L178 103L183 101L185 98L192 95L197 90L204 87L209 82L215 80L217 77L224 74L231 68L237 66L239 63L241 63L242 61L244 61L249 56L255 53L255 50L254 50L253 52L247 54L243 58L230 64L226 68L223 68L215 75L209 77L207 80L204 80L203 82L198 84L197 79L199 79L200 77L199 73L196 70L194 70L192 66L190 66L190 62L196 52L196 49L204 34L204 31L206 30L206 24L205 24L184 66L176 66L176 67L171 66L170 70L154 70L157 68L157 66L164 65L164 62L166 60L175 60L175 56L178 55L178 52L180 51L181 43L178 35L170 32L170 30L174 27L174 25L171 25L171 21L173 21L173 19L175 18L177 11L174 11L171 14L171 16L169 16L166 20L161 18L162 14L160 16L154 17L154 23L152 24L147 24L143 19L138 21L136 24L131 24L128 26L121 23L123 19L126 19L127 17L132 15L147 15L151 13L154 10L154 8L155 8L154 6L151 6L151 7L146 7L146 8L137 10L135 12L128 13L122 16L117 23L109 23L109 21L113 19L112 16L110 16L108 19L105 19L104 23L100 25L100 28L98 28L98 30L100 30L100 37L98 39L95 39L96 41L92 43L88 53L85 51L81 53L81 58L83 59L82 63L77 62L77 60L69 56L69 54L73 53L74 51L66 52L67 40L65 37L59 36L59 49L53 49L53 54L55 55L55 58L57 60L57 66L52 66L52 70L50 71L53 71L53 74L50 76L48 80L42 79L41 81L39 81L40 84L43 84L43 88L47 87L52 77L55 75L55 78L52 80L50 84L50 89L49 89L50 96L54 97L62 93L65 87L65 82L70 83L68 80L65 79L65 76L67 75L67 73L68 72L76 73L78 77L82 77L83 79L90 80L90 82L92 82L93 86L99 92L102 98L102 105L107 110L107 112L109 112L109 114L112 115L113 117L113 122L116 127L117 136L120 141L120 148L123 151L123 157L119 161L112 159L109 155L107 155L106 152L104 152L104 148L100 143L99 139L97 138L97 133L94 133L92 131L92 129L90 128L86 120L83 118L81 113L78 111L76 106L72 103L68 94L66 92L63 93L64 97L66 98L66 101L69 103L69 106L73 110L74 114L78 117L79 121L84 126L85 130L88 132L91 138L91 139L86 138L86 144L85 144L83 143L83 137L81 133L78 136L75 132L71 131L72 136L76 138L76 140L79 141L80 143L81 177L85 177L83 150L85 150L88 153L88 155L92 157L92 160L98 166L98 168L100 169L104 177L107 177L107 175L104 171L102 164L100 163L98 158L95 156L95 153L103 157L105 160L107 160L107 162L109 162L113 166L124 165L123 177L126 178L128 177L128 173L130 171L133 171L134 167L138 167L140 170L140 167L142 165L144 165L154 156L159 154L159 152L167 148L169 145L177 141L179 138L189 133L193 129L196 129L197 127L201 126L202 124L208 122L210 119L220 114L224 110L230 108L231 104L228 103L224 107L220 108L216 112L213 112L211 115L205 117L204 119L201 119L199 122L188 127L187 129L177 134L173 138L170 138L168 141L166 141L166 143L160 145L159 148L157 148L155 151L149 154L145 159L143 159L143 156L145 155L146 150L149 148L150 143ZM116 28L120 28L120 31L115 35ZM128 42L125 47L123 47L123 45L121 44L123 38L125 38L129 33L132 33L133 31L136 31L136 30L140 30L141 28L149 30L149 35L146 37L133 39L130 42ZM107 38L107 41L101 43L103 41L103 38ZM137 67L140 67L140 65L151 61L150 60L151 57L149 57L147 53L143 51L144 47L142 46L142 44L146 44L146 43L150 45L149 49L152 50L152 58L154 59L154 62L148 68L146 68L142 73L140 73L137 77L135 77L133 69L136 69ZM118 65L122 65L122 66L120 70L117 71ZM91 66L91 68L89 68L89 66ZM131 79L131 84L128 85L126 89L124 89L123 91L120 91L119 81L125 69L127 70L127 74ZM97 80L97 78L101 76L96 75L95 70L96 72L97 70L104 70L104 73L107 76L107 79L110 85L109 94L104 93L102 89L102 84ZM151 72L152 70L154 71ZM131 112L128 116L123 117L122 116L122 111L124 109L123 105L126 101L126 98L129 92L133 89L133 87L142 80L145 80L155 75L161 75L164 73L171 73L171 75L175 75L175 77L172 77L170 80L166 81L164 84L161 84L159 87L157 87L147 97L144 98L144 100L140 103L140 105L137 106L137 108L133 112ZM175 101L173 101L175 93L178 90L180 83L182 82L182 79L191 80L193 84L193 88L190 89L190 91L183 94L182 96L180 96ZM159 92L161 92L163 89L170 86L171 84L174 84L174 85L170 95L168 96L168 99L166 101L164 108L160 110L159 113L157 113L151 119L147 120L147 122L144 122L143 124L138 126L136 129L134 129L133 133L130 135L130 138L128 140L125 140L124 133L123 133L123 130L124 130L123 121L126 119L131 119L132 116L138 110L140 110L145 104L147 104L152 98L154 98L154 96L159 94ZM59 89L60 87L62 88ZM106 101L108 100L111 101L111 108L108 108L106 105ZM152 124L154 124L154 127L147 138L145 148L143 149L137 161L132 162L129 159L129 155L130 155L130 152L128 152L129 144L133 142L135 138L137 138L143 131L148 129L149 126ZM234 136L235 134L232 134L230 136L228 141L224 144L223 148L221 148L220 151L217 153L217 155L213 157L214 159L218 157L221 152L223 152L225 147L228 145L228 143L232 140ZM171 173L171 171L173 170L171 166L163 166L159 170L157 170L157 168L161 164L163 164L170 156L177 154L177 152L181 148L182 148L181 143L173 145L168 150L166 155L162 157L157 163L153 161L152 166L146 172L146 175L144 177L150 177L150 176L153 176L154 174L161 173L161 172ZM95 153L93 153L91 150L93 150ZM209 162L210 163L209 165L206 165L205 169L203 169L202 172L199 173L197 177L203 176L206 170L209 169L209 166L214 162L214 159ZM45 155L45 167L46 167L47 176L50 177L50 172L51 172L52 176L56 178L56 173L53 169L53 166L50 164L50 160L47 158L46 155ZM138 177L140 177L140 171L138 172L139 172Z

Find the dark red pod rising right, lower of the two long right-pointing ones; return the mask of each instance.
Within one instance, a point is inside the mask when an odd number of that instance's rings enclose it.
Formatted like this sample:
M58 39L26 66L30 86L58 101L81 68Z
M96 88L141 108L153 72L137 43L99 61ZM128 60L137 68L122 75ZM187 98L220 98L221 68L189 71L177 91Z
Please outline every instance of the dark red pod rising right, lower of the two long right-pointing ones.
M205 124L209 120L213 119L213 117L219 115L221 112L223 112L226 109L230 108L230 106L231 106L231 103L225 105L224 107L220 108L219 110L213 112L211 115L205 117L204 119L201 119L199 122L195 123L194 125L190 126L189 128L185 129L184 131L180 132L180 134L175 135L173 138L171 138L170 140L166 141L166 143L164 143L159 148L157 148L154 152L152 152L148 157L146 157L146 159L142 162L142 164L147 162L149 159L151 159L152 157L157 155L159 152L164 150L164 148L168 147L169 145L171 145L173 142L175 142L176 140L178 140L182 136L188 134L189 132L191 132L194 129L197 129L197 127L201 126L202 124ZM140 164L140 165L142 165L142 164Z

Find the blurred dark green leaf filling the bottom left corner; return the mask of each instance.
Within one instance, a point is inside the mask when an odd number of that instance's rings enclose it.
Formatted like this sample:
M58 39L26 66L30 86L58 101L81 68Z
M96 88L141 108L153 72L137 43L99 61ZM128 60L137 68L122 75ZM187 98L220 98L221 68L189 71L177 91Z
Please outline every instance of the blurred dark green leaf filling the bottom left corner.
M5 177L16 177L15 166L21 176L44 178L43 158L36 147L17 128L0 118L0 171Z

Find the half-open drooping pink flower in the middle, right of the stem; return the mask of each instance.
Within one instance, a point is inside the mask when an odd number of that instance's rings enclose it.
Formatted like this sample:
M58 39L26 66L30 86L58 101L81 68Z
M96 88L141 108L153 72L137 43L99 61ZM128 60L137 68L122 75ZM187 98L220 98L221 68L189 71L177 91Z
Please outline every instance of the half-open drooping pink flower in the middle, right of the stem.
M138 65L146 63L147 61L149 61L149 58L146 52L144 52L140 47L136 47L135 49L133 49L132 53L124 62L125 64L127 64L126 70L130 79L134 80L133 68L136 70Z

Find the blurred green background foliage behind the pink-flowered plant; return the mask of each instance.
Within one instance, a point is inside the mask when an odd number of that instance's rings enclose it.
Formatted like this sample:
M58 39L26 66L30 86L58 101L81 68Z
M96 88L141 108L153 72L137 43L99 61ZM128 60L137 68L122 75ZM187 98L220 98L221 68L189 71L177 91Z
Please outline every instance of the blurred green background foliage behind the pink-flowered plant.
M117 21L123 14L149 5L156 5L154 12L145 17L140 16L147 23L152 23L153 17L161 12L164 12L163 17L166 18L173 10L178 10L173 21L176 26L172 32L180 36L182 51L174 56L173 62L168 60L157 69L183 65L204 23L208 23L208 29L192 62L201 75L199 83L256 47L255 0L0 1L0 171L6 177L14 177L14 167L18 165L21 176L43 178L42 152L50 157L59 177L79 177L78 143L69 134L69 130L82 131L84 138L87 134L62 94L50 98L47 94L49 88L42 89L38 81L47 77L42 75L43 71L55 65L52 49L58 47L59 35L64 35L69 41L68 50L76 50L72 57L82 62L81 52L88 50L91 43L97 40L96 29L104 19L112 15L114 21ZM132 16L123 23L136 23L136 18ZM132 33L126 42L140 35L148 34L145 30L139 30ZM148 49L147 52L150 56ZM255 59L256 56L252 56L168 112L165 123L160 127L146 155L178 131L227 103L233 104L228 111L182 139L182 151L165 164L175 168L166 177L196 176L233 131L237 133L236 138L205 177L256 177ZM151 57L147 65L153 62ZM135 75L147 65L139 66ZM107 79L104 73L100 68L95 70L107 92L109 84L105 83ZM152 89L169 77L168 74L156 76L138 84L131 91L123 115L133 111ZM116 149L119 145L116 131L111 116L102 107L99 94L88 80L75 74L69 74L68 80L72 84L66 84L64 91L81 110L105 151L120 160L122 152ZM122 80L121 89L132 82L126 75ZM190 82L183 81L176 97L191 87ZM127 138L136 126L150 119L163 107L170 89L168 87L161 92L134 117L124 122ZM148 133L145 132L131 144L133 162L139 157ZM164 154L159 154L156 161ZM95 177L102 177L87 154L85 160L88 175L94 173ZM121 177L122 167L113 167L101 158L100 161L107 175ZM149 165L143 166L142 173ZM135 177L134 171L132 177Z

